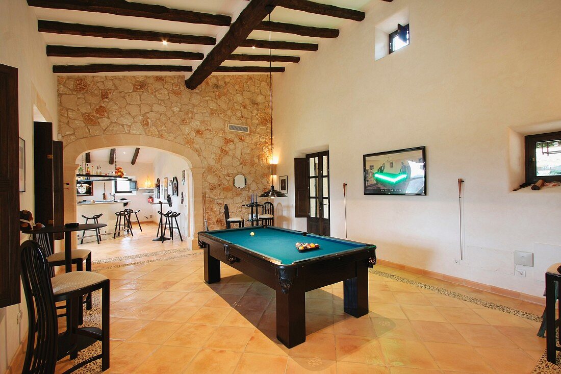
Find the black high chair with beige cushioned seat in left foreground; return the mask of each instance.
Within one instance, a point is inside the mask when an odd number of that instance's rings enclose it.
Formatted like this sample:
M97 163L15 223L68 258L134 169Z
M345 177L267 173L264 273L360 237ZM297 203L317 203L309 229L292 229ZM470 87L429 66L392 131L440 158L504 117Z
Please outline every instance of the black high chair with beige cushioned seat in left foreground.
M21 279L27 302L29 320L27 349L23 374L53 374L56 362L70 354L76 358L79 349L102 342L102 353L85 359L65 373L102 359L102 371L109 368L109 279L88 271L74 271L54 278L44 250L34 240L21 244ZM77 312L83 295L102 290L102 329L78 328ZM56 304L66 301L68 310L67 331L58 334ZM80 348L79 348L80 347Z

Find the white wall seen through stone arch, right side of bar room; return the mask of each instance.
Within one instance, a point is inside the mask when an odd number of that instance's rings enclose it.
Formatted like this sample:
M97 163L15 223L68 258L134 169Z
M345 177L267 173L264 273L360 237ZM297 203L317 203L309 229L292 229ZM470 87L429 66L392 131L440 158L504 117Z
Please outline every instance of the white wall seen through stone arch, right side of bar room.
M182 171L186 171L186 183L183 185L181 183L182 179ZM161 199L154 198L154 202L159 202L162 200L165 203L165 199L167 198L166 195L163 193L163 186L164 186L164 178L168 178L168 183L173 180L173 177L177 177L178 185L179 185L179 193L178 196L173 196L172 194L172 186L168 186L168 194L172 197L172 207L169 207L168 204L164 204L163 210L167 212L168 210L172 210L174 212L180 212L181 216L177 217L177 221L181 227L181 235L183 236L183 242L185 243L185 247L190 245L191 240L187 240L187 238L194 237L194 227L191 225L192 220L190 217L193 216L192 211L192 175L187 162L177 156L174 156L171 153L161 152L159 153L158 157L154 159L154 181L156 178L160 179L160 184L162 188L162 194L160 195ZM183 204L181 204L181 193L183 192ZM158 211L160 209L159 205L153 205L153 217L154 222L159 222L160 215ZM165 218L164 218L165 220ZM154 233L155 234L155 233ZM154 235L155 236L155 235ZM169 236L166 233L166 236ZM177 235L177 231L174 233L174 240L180 240L179 235Z

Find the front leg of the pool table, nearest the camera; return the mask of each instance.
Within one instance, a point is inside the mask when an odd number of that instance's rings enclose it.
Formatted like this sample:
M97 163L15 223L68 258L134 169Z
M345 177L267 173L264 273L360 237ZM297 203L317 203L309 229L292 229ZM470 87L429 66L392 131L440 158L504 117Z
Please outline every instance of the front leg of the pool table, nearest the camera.
M288 348L306 341L305 292L297 283L287 294L277 290L277 339Z

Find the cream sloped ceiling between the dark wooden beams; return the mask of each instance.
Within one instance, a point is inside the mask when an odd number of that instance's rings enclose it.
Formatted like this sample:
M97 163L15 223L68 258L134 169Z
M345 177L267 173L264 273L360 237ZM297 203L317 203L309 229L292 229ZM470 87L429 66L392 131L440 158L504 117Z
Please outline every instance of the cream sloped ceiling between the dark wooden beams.
M199 11L213 14L223 14L232 16L233 19L243 10L249 3L245 0L134 0L135 2L160 4L169 8ZM367 5L373 1L380 0L314 0L319 3L333 4L340 7L351 8L356 10L365 10ZM185 22L173 22L154 20L148 18L118 16L108 13L81 12L48 8L33 8L39 20L62 21L70 23L80 23L98 26L110 26L117 28L128 28L138 30L164 31L177 34L193 34L206 35L215 37L218 40L227 32L226 26L187 24ZM318 26L327 28L337 28L344 33L344 25L349 22L355 22L346 19L339 19L329 16L315 15L312 13L300 12L286 8L277 7L272 12L271 20L274 22L287 22L292 24ZM123 49L162 49L169 51L190 51L208 53L213 45L194 45L194 44L176 44L168 43L163 45L160 42L148 42L143 40L124 40L124 39L105 39L94 37L82 37L79 35L59 35L59 34L42 34L47 44L53 45L70 45L81 47L105 47L105 48L123 48ZM250 39L269 39L268 31L253 31ZM282 40L286 42L305 42L318 43L321 48L321 38L303 37L295 34L272 33L272 40ZM268 54L267 49L237 48L235 53L246 54ZM273 54L281 54L286 56L304 56L306 51L286 51L273 50ZM200 64L200 61L190 60L167 60L167 59L136 59L136 58L68 58L68 57L50 57L53 65L88 65L91 63L115 63L115 64L139 64L139 65L189 65L193 70ZM247 62L247 61L225 61L223 66L269 66L269 62ZM273 66L290 66L288 62L273 62ZM107 73L104 73L107 74ZM112 73L115 74L115 73ZM121 73L117 73L121 74ZM161 73L151 73L159 75ZM187 73L187 76L191 73Z

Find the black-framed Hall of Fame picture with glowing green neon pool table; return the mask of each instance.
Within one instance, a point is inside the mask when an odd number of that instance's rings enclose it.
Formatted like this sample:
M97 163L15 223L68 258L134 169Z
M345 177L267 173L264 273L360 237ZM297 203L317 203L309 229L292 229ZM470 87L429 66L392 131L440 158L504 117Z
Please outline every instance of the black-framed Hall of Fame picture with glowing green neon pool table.
M425 147L364 155L365 195L426 195Z

